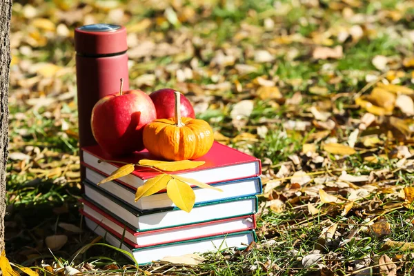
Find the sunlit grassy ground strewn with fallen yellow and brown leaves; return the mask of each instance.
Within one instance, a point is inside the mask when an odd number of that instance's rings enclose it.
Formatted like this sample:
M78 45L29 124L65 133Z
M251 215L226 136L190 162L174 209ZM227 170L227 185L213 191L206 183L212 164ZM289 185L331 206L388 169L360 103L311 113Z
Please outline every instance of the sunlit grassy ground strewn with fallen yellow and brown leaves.
M180 90L217 141L263 164L257 244L139 274L413 270L413 2L33 0L13 10L10 261L136 271L103 246L74 259L96 237L77 213L72 30L104 21L128 28L131 88ZM51 235L68 242L51 252Z

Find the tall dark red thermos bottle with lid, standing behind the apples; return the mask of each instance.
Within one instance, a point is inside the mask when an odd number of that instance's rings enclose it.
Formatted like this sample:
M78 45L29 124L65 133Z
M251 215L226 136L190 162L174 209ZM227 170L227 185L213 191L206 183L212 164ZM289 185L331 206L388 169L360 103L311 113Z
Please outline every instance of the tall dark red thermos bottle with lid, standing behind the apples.
M119 91L124 79L128 90L126 28L112 24L93 24L75 29L79 146L97 144L90 128L95 103Z

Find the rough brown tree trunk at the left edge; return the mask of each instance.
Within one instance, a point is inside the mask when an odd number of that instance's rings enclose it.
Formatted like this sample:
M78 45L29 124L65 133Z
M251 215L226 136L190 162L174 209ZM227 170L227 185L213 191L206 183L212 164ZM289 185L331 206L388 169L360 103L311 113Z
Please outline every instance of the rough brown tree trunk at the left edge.
M4 250L6 215L6 163L8 159L8 86L12 0L0 0L0 253Z

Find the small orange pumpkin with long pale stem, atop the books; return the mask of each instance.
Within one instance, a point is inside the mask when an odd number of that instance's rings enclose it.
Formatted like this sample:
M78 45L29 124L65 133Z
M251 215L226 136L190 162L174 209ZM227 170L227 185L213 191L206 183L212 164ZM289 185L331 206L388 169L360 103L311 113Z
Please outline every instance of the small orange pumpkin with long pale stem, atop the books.
M167 160L196 159L213 146L213 129L200 119L183 117L175 92L175 117L157 119L144 128L144 146L155 157Z

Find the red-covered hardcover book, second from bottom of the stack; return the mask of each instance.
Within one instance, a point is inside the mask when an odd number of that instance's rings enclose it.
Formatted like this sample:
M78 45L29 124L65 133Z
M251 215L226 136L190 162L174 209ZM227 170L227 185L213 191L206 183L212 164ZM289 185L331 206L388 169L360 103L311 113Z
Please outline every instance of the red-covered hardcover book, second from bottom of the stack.
M124 237L124 241L133 248L183 242L190 239L237 233L256 228L255 216L245 215L217 221L206 221L199 224L137 232L128 228L128 226L111 217L89 201L83 199L80 201L84 206L83 210L79 210L82 215L119 239Z

